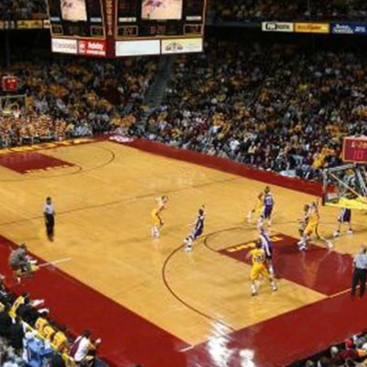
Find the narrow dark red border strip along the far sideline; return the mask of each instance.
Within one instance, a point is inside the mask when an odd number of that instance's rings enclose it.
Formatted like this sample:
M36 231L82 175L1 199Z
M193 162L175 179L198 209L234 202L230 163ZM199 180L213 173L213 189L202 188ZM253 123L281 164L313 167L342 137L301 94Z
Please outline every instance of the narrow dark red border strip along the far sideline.
M111 139L110 141L114 140ZM227 158L204 155L202 153L194 152L193 150L173 148L166 144L146 139L135 139L134 141L124 142L122 144L143 150L145 152L154 153L160 156L189 163L199 164L200 166L214 168L223 172L266 182L271 185L277 185L319 197L322 196L322 186L320 183L306 181L299 178L284 177L274 172L257 170L247 166L246 164L237 163Z

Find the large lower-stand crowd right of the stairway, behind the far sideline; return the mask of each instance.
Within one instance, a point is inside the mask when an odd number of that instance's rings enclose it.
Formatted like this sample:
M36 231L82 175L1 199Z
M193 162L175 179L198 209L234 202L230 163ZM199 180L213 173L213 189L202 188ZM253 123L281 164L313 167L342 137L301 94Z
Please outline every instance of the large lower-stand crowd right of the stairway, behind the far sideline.
M367 134L366 62L292 46L212 41L177 59L166 102L130 134L302 178Z

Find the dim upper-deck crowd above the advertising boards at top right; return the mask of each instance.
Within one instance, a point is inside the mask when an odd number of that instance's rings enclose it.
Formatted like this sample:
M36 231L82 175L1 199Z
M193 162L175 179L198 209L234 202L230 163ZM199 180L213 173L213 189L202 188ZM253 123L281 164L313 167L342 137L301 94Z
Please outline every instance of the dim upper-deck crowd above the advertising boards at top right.
M225 21L365 20L364 0L211 0L209 10Z

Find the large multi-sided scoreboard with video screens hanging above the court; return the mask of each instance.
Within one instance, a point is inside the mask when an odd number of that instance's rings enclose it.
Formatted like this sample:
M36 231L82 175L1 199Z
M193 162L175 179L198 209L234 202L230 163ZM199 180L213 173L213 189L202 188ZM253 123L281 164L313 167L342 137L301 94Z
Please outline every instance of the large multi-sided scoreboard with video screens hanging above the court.
M125 57L203 51L206 0L48 0L52 51Z

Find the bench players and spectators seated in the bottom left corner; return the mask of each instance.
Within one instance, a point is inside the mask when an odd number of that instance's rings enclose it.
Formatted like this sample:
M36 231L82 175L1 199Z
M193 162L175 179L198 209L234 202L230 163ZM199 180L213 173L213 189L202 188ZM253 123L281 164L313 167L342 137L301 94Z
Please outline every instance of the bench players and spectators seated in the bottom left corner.
M101 339L92 341L87 330L76 339L71 338L65 325L48 317L49 309L40 308L43 304L43 300L31 300L28 293L16 297L0 277L0 365L28 366L27 349L33 343L32 349L42 350L48 361L43 365L64 367L73 357L79 366L93 366Z

